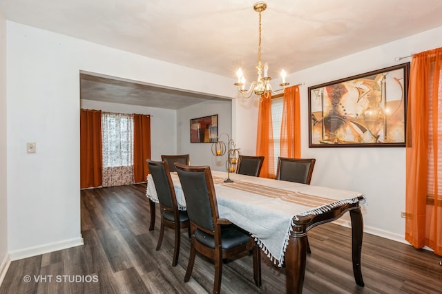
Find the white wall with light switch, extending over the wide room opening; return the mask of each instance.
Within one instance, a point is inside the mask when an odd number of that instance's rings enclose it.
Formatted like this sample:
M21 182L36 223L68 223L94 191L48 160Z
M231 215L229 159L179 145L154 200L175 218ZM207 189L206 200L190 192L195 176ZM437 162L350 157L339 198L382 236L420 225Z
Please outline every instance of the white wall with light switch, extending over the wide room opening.
M81 244L80 70L218 96L233 93L231 78L6 24L8 250L13 259ZM37 143L37 154L26 154L26 142Z

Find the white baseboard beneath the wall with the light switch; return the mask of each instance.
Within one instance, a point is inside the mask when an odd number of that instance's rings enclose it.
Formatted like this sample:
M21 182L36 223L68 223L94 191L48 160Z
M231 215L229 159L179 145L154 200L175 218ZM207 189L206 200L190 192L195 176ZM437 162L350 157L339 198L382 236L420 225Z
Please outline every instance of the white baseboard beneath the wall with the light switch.
M10 251L10 260L21 260L23 258L30 258L35 255L40 255L44 253L49 253L52 251L58 251L61 249L68 249L70 247L83 245L83 238L73 238L68 240L62 240L59 242L52 242L48 244L43 244L39 246L32 246L25 249L19 249L15 251Z

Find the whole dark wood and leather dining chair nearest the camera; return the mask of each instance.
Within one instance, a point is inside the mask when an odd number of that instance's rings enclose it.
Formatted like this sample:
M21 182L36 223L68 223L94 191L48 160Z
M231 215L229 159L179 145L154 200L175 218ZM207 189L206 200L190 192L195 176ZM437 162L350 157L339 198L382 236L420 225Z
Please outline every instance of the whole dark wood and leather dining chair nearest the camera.
M260 286L260 248L248 232L220 218L210 167L191 167L180 163L175 163L175 166L191 222L191 253L184 282L191 277L198 251L215 262L213 293L220 293L223 260L243 251L252 251L253 279L256 286Z

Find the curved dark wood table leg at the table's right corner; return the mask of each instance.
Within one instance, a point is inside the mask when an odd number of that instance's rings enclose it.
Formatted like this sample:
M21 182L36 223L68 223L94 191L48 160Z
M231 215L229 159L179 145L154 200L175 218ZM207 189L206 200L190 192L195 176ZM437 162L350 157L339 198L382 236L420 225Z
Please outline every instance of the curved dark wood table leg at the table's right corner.
M361 209L354 209L350 211L350 218L352 218L352 260L354 280L359 286L364 286L361 271L361 249L363 237L363 218Z

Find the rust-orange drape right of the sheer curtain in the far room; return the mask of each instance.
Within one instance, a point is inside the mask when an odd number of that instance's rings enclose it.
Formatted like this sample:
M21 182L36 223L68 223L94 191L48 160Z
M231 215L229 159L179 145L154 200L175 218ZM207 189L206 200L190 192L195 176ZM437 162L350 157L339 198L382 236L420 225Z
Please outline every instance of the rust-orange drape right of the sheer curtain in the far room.
M149 169L146 159L151 158L151 116L133 115L133 178L146 182Z

